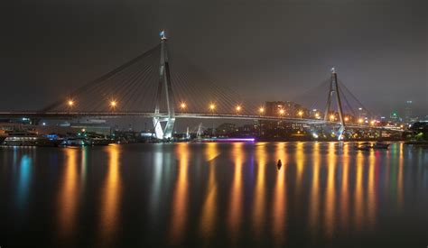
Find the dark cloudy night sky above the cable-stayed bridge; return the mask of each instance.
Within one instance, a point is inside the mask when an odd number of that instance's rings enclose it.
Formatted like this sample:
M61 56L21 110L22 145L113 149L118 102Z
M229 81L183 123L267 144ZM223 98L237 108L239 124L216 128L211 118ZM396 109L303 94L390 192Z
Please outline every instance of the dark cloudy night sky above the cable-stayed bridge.
M14 3L12 3L14 2ZM40 109L131 60L166 29L173 51L256 101L287 100L336 67L374 113L428 115L426 1L9 1L0 110Z

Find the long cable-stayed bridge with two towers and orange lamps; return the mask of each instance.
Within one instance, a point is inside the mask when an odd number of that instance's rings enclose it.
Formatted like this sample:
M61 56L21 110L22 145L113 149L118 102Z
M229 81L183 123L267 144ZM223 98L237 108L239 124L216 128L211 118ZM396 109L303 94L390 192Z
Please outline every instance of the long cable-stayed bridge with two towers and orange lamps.
M346 117L341 103L341 97L344 95L334 69L331 70L330 89L323 116L321 113L316 113L313 118L308 118L303 116L302 111L293 116L285 113L281 108L278 108L276 115L272 113L269 115L265 106L255 106L251 102L244 103L244 100L233 91L217 87L202 73L198 74L195 67L185 66L185 63L171 63L165 32L161 32L160 35L161 44L154 49L79 87L70 96L60 99L41 111L0 112L0 116L10 118L149 117L154 121L154 133L159 139L172 137L177 118L328 124L339 127L337 130L339 138L345 126L367 127L361 125L361 119L358 119L356 124ZM333 97L336 99L337 110L331 109ZM345 101L349 106L349 101L347 99ZM357 103L361 110L362 106L358 100ZM175 106L180 113L176 113Z

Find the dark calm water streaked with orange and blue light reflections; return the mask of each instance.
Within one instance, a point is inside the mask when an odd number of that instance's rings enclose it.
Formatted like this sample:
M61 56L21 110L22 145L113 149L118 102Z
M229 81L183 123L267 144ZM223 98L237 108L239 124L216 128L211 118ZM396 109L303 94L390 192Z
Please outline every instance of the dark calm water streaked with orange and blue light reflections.
M367 244L364 238L385 237L391 228L425 240L428 215L420 209L428 207L427 151L403 143L370 152L347 142L1 152L6 204L0 213L5 225L23 220L17 229L2 229L6 244L27 244L19 237L32 235L39 223L47 234L33 239L53 246L56 240L101 247L130 241L312 246L347 243L349 233L353 243ZM51 216L52 225L45 221ZM406 219L421 223L403 225ZM400 232L391 242L398 243Z

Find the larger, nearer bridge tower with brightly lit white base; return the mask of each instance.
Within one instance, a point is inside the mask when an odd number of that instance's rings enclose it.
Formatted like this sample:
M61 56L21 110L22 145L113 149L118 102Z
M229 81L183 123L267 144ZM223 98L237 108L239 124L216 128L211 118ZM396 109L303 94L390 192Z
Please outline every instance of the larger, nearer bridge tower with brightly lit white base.
M171 86L170 66L168 61L168 50L165 31L159 33L161 36L161 61L159 65L159 84L157 87L156 105L154 107L154 134L157 139L170 139L175 123L174 100ZM162 94L166 96L166 107L168 113L166 116L160 115ZM162 123L166 122L163 128Z

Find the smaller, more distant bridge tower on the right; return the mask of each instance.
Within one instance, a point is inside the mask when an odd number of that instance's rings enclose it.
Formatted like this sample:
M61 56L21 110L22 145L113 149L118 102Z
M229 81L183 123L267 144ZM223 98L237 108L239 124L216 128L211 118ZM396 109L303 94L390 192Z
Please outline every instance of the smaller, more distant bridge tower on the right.
M327 100L327 106L325 108L324 113L324 121L328 122L330 121L330 106L331 106L331 98L336 96L336 102L338 105L338 112L339 112L339 121L340 121L340 128L338 131L338 139L341 140L343 138L343 132L345 131L345 122L343 120L343 111L342 111L342 104L340 101L340 93L339 93L339 82L338 82L338 74L336 73L336 69L331 69L331 78L330 78L330 91L329 91L329 97Z

